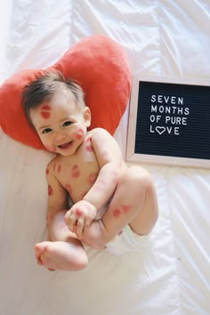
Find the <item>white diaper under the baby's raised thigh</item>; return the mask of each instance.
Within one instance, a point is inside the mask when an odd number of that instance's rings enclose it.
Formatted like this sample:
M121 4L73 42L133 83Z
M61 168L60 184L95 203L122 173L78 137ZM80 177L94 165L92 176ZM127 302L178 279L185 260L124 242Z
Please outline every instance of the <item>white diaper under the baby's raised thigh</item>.
M106 250L116 256L125 253L136 252L149 245L149 234L145 236L133 232L129 225L126 225L119 235L111 240L106 246Z

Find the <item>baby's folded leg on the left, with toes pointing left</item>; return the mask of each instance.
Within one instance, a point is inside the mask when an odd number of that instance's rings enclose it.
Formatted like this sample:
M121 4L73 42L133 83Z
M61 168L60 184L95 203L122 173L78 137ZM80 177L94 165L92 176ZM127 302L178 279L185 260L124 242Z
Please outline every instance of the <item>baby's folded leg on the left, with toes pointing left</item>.
M88 263L85 249L64 222L66 211L54 214L49 222L51 241L35 246L36 260L49 270L79 271Z

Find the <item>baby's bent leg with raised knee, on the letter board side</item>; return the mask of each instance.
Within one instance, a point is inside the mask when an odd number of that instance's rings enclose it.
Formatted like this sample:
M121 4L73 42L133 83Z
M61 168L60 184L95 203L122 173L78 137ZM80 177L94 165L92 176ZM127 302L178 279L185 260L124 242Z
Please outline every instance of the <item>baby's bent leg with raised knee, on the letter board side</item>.
M149 173L141 167L128 168L117 183L117 190L101 220L85 230L84 241L100 248L129 223L139 235L152 230L158 219L158 201ZM98 236L97 236L98 234ZM97 237L96 237L97 236Z

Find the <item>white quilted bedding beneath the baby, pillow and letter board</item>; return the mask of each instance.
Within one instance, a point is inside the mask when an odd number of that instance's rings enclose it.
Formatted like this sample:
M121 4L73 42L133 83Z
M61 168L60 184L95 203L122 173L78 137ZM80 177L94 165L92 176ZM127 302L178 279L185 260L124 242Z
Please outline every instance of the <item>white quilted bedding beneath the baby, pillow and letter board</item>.
M210 78L208 0L18 0L0 4L0 84L50 66L82 38L106 35L133 76ZM129 104L115 137L125 155ZM210 145L210 143L206 143ZM210 170L144 164L157 190L151 246L120 257L88 249L79 272L36 265L46 237L50 153L0 132L1 315L208 315Z

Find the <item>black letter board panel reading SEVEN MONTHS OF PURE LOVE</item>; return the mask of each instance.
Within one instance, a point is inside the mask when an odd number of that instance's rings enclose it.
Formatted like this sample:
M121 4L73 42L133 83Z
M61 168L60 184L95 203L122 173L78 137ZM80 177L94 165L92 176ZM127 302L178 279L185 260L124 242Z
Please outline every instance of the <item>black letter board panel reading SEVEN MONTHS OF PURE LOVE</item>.
M134 153L210 159L210 87L140 81Z

